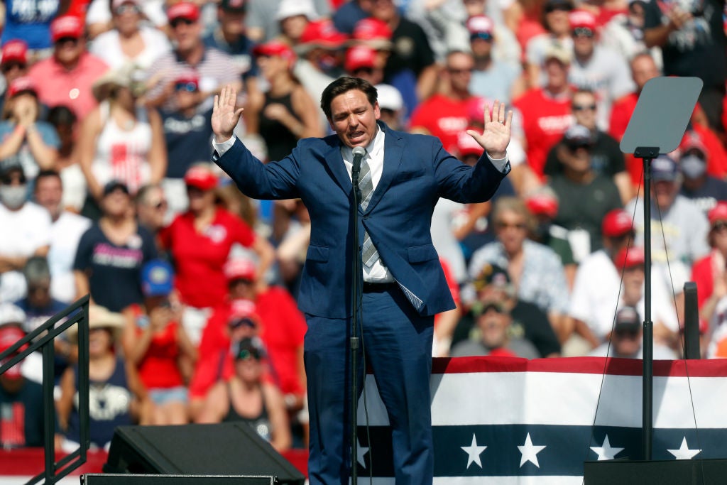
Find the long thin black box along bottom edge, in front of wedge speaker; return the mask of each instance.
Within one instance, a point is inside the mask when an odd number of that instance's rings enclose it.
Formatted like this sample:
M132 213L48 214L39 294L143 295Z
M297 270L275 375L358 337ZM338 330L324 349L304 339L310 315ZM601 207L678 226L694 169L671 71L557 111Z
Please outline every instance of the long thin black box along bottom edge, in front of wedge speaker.
M119 475L87 473L81 485L275 485L272 476L244 475Z

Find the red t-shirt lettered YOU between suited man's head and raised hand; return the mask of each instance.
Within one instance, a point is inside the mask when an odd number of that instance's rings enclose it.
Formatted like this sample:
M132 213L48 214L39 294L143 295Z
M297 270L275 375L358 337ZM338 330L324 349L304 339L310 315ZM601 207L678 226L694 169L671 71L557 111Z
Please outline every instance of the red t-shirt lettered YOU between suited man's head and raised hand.
M422 127L438 137L449 153L457 151L457 137L470 126L467 100L453 100L444 95L433 95L411 115L411 129Z

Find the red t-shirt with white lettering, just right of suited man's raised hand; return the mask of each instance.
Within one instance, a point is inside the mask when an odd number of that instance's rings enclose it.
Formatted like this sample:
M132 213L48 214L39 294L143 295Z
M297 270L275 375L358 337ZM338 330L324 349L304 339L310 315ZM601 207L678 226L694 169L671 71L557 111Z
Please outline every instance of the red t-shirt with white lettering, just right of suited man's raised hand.
M571 97L554 98L547 95L542 88L534 88L519 97L513 106L523 116L528 164L542 178L548 151L563 138L563 134L574 123Z

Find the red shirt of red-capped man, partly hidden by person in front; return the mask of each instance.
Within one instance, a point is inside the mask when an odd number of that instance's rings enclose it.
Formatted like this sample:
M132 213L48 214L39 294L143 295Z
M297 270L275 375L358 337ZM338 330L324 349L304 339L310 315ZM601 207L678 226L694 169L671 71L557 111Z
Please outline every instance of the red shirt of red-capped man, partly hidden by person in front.
M199 342L190 396L202 397L214 382L228 380L234 372L230 354L228 321L232 308L229 302L214 310L207 321ZM285 289L270 286L257 295L255 313L260 318L260 338L268 350L271 382L284 394L305 393L298 371L298 353L308 326L295 301Z

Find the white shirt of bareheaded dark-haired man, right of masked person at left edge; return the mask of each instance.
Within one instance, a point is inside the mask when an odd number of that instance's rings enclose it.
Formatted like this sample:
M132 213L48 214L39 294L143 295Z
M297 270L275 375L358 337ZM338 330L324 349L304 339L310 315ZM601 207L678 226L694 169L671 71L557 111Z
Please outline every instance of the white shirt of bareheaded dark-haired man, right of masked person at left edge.
M73 212L62 212L58 220L52 223L48 265L51 276L50 293L56 300L70 303L76 297L73 260L76 259L79 240L89 227L91 220Z

